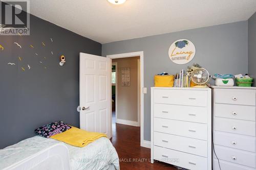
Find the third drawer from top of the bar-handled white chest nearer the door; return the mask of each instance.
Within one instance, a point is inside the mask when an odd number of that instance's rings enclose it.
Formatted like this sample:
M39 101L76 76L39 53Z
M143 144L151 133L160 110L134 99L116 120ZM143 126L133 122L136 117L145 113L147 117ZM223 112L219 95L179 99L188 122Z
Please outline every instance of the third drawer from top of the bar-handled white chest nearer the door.
M154 118L154 131L207 140L207 125L180 120Z

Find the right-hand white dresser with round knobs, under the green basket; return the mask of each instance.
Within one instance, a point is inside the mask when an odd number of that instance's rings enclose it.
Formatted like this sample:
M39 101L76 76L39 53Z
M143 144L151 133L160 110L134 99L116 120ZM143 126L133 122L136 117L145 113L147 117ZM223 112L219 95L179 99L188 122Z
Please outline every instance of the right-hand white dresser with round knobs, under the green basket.
M256 169L255 87L212 86L214 170ZM220 163L219 163L220 162Z

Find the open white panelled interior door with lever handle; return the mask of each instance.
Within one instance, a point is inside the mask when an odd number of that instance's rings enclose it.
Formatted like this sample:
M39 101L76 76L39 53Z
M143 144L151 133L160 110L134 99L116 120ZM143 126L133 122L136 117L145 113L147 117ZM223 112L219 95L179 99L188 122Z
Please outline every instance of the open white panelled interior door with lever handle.
M105 133L111 130L111 59L80 53L80 128Z

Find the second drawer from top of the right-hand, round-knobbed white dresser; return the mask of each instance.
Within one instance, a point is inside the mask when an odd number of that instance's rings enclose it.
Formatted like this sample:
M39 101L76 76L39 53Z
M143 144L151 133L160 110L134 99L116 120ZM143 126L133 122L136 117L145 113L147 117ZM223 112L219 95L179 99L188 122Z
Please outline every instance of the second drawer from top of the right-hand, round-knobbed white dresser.
M215 116L255 121L255 106L216 103Z

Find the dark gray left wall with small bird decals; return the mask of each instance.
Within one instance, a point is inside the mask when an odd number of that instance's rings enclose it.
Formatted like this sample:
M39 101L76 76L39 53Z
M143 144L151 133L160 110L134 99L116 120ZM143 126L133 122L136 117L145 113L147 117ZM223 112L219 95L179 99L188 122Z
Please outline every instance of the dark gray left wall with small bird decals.
M101 55L98 42L35 16L30 21L30 36L0 36L4 46L0 50L0 149L33 136L34 129L56 120L79 127L79 53ZM66 56L63 66L59 66L60 55Z

